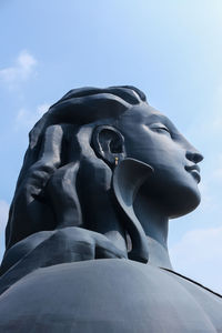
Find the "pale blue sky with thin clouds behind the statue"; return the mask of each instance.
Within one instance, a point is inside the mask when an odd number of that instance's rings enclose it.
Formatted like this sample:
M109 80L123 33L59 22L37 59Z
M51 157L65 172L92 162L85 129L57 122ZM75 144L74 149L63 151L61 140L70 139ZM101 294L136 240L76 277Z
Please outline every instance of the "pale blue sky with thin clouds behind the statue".
M47 108L82 85L133 84L205 157L202 203L171 221L174 269L222 293L222 2L1 0L0 232Z

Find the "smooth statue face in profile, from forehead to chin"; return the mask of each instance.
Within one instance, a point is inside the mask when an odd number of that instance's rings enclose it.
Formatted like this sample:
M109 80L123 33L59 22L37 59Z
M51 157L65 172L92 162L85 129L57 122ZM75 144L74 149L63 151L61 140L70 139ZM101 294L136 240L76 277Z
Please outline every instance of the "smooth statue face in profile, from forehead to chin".
M172 122L148 104L134 107L118 122L128 158L154 169L141 188L142 195L155 202L169 218L189 213L200 203L200 168L203 157Z

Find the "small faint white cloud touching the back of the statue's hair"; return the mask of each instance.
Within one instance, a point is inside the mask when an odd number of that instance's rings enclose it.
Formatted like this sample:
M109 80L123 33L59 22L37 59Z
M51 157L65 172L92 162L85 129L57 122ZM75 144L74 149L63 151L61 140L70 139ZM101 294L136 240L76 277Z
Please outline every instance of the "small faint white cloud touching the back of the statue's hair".
M49 103L42 103L34 111L20 109L16 118L16 129L29 129L46 113L50 108Z

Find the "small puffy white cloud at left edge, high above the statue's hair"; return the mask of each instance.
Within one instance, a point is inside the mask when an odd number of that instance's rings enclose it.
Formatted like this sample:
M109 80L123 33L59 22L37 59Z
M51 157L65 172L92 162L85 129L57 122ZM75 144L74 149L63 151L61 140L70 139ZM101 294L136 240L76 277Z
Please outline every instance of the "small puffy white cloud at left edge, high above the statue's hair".
M14 65L0 70L0 80L12 88L14 84L28 80L34 73L36 65L34 57L23 50L16 59Z

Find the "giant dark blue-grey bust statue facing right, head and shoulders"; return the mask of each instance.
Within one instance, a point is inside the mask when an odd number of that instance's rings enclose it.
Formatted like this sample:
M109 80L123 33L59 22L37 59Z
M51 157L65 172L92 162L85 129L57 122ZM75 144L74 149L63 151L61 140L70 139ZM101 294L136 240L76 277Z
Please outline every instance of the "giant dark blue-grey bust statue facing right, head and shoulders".
M1 332L222 332L221 295L168 253L169 219L200 203L202 159L134 87L53 104L10 208Z

